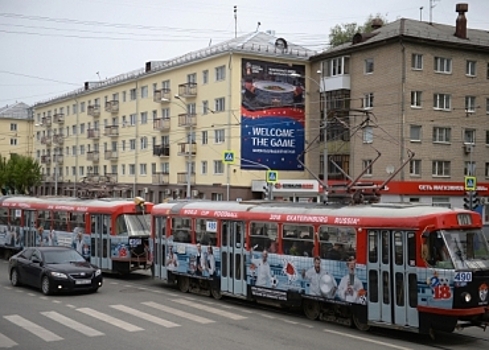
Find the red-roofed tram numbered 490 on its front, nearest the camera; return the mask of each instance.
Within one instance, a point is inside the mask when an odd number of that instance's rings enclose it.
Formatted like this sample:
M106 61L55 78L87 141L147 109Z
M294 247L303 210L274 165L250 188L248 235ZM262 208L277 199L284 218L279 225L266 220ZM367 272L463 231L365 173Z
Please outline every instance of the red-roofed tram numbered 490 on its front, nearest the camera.
M301 306L361 330L485 327L477 213L411 204L170 202L152 210L155 276L182 292Z

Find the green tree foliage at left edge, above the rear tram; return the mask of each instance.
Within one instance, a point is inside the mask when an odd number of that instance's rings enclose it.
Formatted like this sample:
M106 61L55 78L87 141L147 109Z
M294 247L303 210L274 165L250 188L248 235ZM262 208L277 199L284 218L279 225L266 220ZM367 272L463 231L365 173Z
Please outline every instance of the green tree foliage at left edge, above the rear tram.
M0 188L3 194L28 194L29 189L41 184L41 165L32 157L11 154L10 159L0 155Z

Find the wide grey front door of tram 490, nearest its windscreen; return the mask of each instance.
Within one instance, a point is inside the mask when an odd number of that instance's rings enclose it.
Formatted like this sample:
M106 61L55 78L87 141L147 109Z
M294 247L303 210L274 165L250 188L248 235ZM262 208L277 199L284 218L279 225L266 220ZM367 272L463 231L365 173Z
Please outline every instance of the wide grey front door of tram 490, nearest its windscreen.
M414 232L370 230L368 239L369 321L418 327Z

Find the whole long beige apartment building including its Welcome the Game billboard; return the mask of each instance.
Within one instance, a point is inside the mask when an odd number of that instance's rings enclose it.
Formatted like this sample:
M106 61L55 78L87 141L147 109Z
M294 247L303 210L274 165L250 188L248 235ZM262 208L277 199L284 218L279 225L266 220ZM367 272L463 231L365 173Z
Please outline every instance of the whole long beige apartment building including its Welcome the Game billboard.
M262 198L267 170L308 179L317 118L305 113L314 52L255 32L34 106L37 193L239 200ZM318 87L314 88L318 91ZM88 186L88 187L87 187Z

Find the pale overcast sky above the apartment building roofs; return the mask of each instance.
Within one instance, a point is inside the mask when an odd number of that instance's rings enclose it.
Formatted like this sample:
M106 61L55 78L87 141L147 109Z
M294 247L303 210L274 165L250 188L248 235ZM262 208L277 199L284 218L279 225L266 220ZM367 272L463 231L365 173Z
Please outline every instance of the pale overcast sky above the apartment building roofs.
M332 27L371 14L455 25L459 2L469 4L469 28L489 30L489 0L0 0L0 107L257 30L321 51Z

